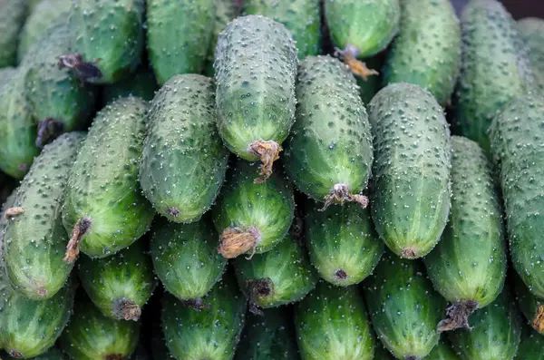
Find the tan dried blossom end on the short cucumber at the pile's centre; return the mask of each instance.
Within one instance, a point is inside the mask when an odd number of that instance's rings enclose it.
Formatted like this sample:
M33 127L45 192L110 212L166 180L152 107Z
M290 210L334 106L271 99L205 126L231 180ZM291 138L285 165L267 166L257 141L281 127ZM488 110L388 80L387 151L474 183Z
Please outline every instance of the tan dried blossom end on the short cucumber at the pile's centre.
M260 241L260 232L252 226L248 228L227 228L221 234L219 241L219 252L225 258L236 258L253 248L249 260L255 255Z

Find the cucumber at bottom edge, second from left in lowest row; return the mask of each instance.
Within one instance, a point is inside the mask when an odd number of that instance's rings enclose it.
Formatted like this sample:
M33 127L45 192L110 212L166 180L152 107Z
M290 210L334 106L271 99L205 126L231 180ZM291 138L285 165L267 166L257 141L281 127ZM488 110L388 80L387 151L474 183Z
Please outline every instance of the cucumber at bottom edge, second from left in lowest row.
M73 359L125 359L136 350L140 327L134 321L113 320L89 299L78 297L60 345Z

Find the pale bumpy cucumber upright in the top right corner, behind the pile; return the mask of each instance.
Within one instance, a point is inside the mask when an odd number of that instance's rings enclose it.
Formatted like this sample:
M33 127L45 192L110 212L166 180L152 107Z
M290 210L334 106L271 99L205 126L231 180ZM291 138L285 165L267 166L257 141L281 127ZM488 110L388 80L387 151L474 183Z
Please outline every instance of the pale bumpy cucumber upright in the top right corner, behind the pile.
M533 75L516 23L499 1L471 1L463 9L461 30L455 131L489 151L493 118L532 87Z

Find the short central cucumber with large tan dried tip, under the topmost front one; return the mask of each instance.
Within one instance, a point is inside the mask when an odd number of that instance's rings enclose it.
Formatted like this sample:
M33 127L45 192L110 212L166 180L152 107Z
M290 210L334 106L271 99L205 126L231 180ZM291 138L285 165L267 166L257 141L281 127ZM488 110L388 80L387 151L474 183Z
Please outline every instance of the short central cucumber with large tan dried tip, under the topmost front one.
M255 183L253 169L238 160L228 170L227 184L211 210L219 232L219 252L225 258L236 258L249 250L251 256L269 251L285 238L295 216L290 183L278 174Z

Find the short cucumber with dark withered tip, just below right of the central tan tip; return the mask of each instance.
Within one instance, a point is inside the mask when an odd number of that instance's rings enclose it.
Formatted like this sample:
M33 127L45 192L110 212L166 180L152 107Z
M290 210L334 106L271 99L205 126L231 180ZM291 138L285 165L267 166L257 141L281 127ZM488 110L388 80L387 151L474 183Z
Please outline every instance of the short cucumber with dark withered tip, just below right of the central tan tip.
M234 267L242 292L253 305L264 308L294 303L316 287L316 270L306 250L291 235L266 254L257 254L251 260L237 258ZM255 281L266 281L270 293L252 294L250 287Z

